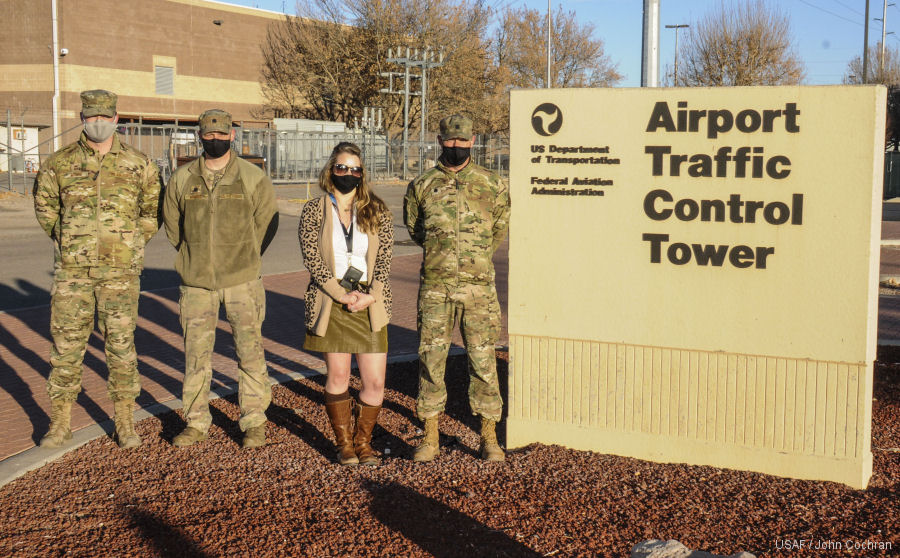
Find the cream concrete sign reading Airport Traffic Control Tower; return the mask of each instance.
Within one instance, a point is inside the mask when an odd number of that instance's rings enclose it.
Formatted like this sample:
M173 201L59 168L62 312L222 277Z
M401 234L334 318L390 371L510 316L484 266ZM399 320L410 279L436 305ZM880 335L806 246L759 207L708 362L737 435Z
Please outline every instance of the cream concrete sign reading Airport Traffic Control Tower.
M885 89L510 111L508 443L865 486Z

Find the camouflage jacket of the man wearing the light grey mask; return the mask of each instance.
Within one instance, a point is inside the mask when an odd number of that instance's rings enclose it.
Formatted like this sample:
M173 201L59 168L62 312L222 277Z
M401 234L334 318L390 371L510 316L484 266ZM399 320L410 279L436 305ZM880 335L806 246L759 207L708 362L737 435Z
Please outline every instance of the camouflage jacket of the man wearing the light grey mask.
M81 138L44 161L34 180L34 212L62 267L139 273L144 245L159 229L159 169L119 141L100 156Z

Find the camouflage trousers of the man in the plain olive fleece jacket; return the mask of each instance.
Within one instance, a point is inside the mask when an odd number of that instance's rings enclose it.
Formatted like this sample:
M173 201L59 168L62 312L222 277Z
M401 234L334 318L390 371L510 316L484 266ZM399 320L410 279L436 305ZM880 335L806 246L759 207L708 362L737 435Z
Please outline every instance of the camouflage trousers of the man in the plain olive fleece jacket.
M264 424L272 388L262 347L262 322L266 317L266 292L262 280L217 291L182 285L179 304L185 360L181 399L188 426L206 432L212 424L209 385L220 304L225 305L238 358L238 403L241 406L238 425L246 431Z

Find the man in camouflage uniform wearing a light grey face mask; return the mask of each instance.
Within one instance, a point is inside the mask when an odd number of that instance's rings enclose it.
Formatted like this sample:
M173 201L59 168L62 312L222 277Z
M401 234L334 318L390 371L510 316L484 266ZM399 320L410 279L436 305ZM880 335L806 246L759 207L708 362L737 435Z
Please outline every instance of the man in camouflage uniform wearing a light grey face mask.
M141 445L134 431L140 392L134 328L144 245L159 228L159 170L115 134L116 95L81 94L84 131L44 161L34 182L34 211L53 240L50 301L50 430L42 447L72 438L72 402L81 391L82 360L96 308L106 341L109 397L116 439Z

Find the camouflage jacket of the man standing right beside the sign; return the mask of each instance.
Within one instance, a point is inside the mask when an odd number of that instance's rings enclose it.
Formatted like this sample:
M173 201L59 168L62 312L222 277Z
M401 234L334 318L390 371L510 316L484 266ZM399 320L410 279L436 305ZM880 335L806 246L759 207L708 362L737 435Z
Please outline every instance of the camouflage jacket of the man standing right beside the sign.
M506 236L509 211L506 184L471 162L459 172L438 163L413 180L403 220L409 236L425 250L423 284L492 284L491 257Z

